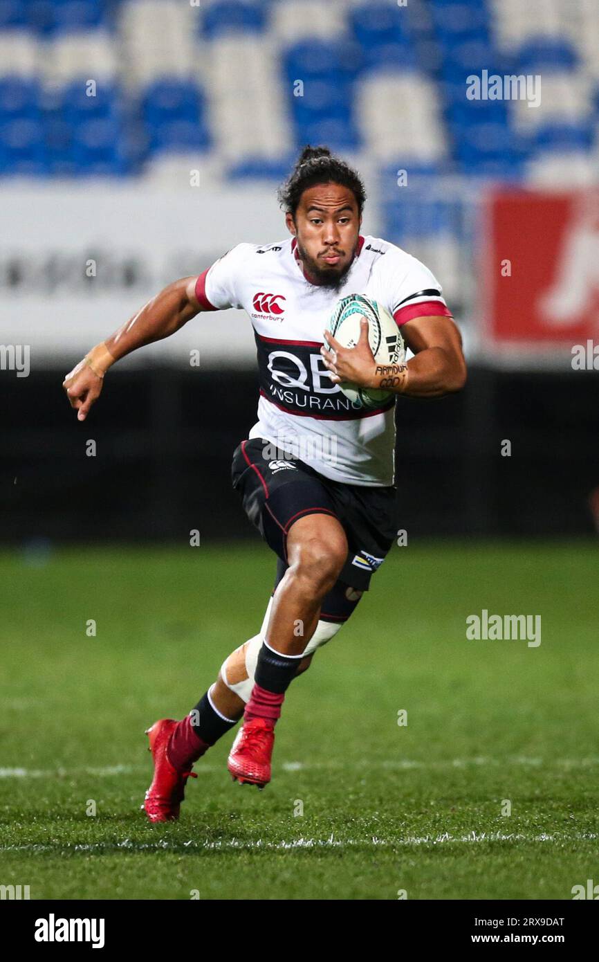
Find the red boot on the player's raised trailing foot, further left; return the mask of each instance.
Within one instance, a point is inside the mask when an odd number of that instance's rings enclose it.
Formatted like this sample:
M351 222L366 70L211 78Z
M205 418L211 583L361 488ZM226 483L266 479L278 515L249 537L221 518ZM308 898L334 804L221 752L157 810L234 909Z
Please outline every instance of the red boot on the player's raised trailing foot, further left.
M148 751L152 752L154 760L154 778L145 793L142 808L150 822L174 822L178 819L187 778L189 775L197 778L196 773L191 771L191 765L187 766L187 771L177 769L170 763L166 753L170 736L178 723L173 719L161 719L146 730L150 740Z

